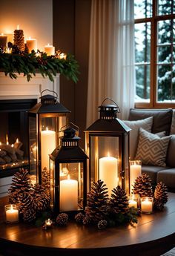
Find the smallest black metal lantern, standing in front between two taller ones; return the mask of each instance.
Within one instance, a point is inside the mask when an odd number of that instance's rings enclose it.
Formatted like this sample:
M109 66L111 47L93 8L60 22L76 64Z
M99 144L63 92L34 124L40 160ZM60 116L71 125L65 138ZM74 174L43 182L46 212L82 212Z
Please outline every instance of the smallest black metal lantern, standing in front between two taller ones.
M86 205L88 157L79 148L80 138L72 125L50 154L50 206L56 214L83 210Z

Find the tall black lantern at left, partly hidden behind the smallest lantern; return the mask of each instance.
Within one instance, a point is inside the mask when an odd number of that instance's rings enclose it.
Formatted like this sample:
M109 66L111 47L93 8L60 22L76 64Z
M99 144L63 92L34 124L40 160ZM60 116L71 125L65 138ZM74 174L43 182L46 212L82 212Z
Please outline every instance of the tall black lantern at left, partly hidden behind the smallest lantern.
M42 183L42 172L45 175L49 170L49 154L60 144L59 131L66 125L70 113L58 102L57 93L50 92L56 96L41 93L41 102L28 111L30 174L38 183Z

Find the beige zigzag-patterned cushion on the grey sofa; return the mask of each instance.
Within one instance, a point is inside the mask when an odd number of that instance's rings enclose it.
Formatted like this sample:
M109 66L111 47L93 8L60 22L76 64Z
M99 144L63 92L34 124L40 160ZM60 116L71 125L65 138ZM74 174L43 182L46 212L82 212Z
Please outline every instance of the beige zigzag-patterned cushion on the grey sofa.
M165 159L171 136L160 138L144 129L139 129L139 143L136 160L142 160L143 165L166 166Z

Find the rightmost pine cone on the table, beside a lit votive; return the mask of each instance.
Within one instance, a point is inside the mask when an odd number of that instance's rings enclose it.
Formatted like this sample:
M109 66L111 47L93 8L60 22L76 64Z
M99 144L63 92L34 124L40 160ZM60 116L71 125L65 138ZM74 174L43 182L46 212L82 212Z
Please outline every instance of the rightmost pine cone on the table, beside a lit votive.
M162 183L162 181L160 181L159 183L157 183L154 191L153 206L155 209L162 211L167 201L168 201L168 188L165 186L164 183Z

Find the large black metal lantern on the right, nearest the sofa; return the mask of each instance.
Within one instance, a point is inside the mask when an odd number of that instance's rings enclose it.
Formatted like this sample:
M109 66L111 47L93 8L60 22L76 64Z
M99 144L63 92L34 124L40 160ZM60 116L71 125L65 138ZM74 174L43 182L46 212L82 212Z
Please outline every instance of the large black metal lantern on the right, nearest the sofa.
M108 99L108 98L107 98ZM86 153L89 156L88 183L103 180L109 195L116 186L129 191L129 131L117 118L119 106L99 106L100 118L86 129Z

